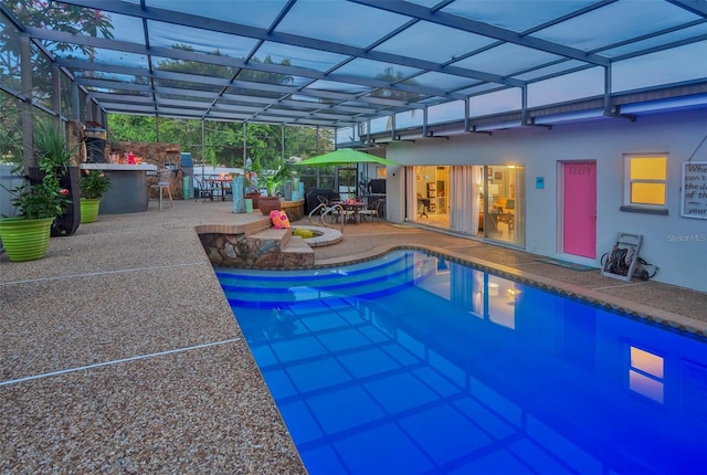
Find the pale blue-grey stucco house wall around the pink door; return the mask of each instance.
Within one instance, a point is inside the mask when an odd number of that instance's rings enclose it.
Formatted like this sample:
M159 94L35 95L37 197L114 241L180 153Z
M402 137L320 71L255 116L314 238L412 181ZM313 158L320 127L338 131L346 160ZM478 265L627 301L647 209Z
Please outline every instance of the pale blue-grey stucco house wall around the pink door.
M707 220L680 217L683 162L707 161L705 109L641 115L636 122L601 118L393 141L387 158L402 165L518 165L525 167L528 252L600 266L619 232L643 235L641 256L661 267L656 281L707 292ZM625 154L667 154L667 215L621 211ZM559 162L597 161L597 258L563 255L560 243ZM392 171L397 171L393 176ZM545 189L536 188L545 178ZM388 170L388 218L404 219L404 173Z

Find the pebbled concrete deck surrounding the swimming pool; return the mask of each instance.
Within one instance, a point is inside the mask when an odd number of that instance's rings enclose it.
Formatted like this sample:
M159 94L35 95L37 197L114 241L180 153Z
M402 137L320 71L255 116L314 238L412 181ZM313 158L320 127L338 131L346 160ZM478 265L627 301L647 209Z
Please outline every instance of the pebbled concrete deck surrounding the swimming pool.
M175 205L101 215L40 261L0 255L1 472L306 473L194 231L250 217L229 202ZM707 294L419 228L348 225L315 262L401 245L707 332Z

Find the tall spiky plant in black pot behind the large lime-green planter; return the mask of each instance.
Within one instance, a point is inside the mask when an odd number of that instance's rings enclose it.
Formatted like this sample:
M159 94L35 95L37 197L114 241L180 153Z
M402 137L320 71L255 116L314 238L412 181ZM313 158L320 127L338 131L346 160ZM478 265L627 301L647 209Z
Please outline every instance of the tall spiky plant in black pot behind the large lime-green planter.
M52 225L52 235L71 235L78 229L81 208L78 202L78 167L73 163L73 157L78 146L68 144L63 127L52 120L40 122L34 131L34 156L38 167L27 169L30 184L41 183L48 175L59 179L62 189L68 190L64 200L64 212L57 217Z

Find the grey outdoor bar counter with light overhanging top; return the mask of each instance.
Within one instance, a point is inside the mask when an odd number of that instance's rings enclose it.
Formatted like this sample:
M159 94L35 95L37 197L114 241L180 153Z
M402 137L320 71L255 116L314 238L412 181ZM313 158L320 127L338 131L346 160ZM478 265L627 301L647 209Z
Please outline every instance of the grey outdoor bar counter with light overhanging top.
M150 200L148 173L156 165L81 163L82 170L99 170L110 179L110 188L101 200L101 213L120 214L147 211Z

